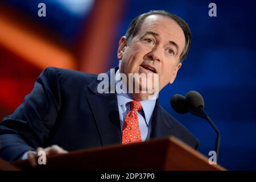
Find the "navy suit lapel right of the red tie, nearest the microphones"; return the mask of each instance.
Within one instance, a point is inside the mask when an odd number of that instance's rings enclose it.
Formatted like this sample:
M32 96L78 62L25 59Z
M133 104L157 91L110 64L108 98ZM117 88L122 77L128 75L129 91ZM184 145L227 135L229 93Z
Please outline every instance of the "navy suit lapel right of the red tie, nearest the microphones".
M159 105L159 100L156 100L152 116L152 130L150 138L163 138L171 135L171 130L174 125L164 117L162 112L163 109Z

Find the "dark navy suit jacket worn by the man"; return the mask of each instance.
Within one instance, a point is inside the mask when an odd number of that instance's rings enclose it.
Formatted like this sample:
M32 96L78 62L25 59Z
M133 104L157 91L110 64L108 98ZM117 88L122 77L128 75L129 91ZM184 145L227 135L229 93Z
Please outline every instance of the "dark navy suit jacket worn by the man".
M117 96L99 94L99 82L89 73L45 69L23 104L0 123L0 157L12 162L28 150L52 144L73 151L121 143ZM199 140L156 100L150 138L171 135L199 147Z

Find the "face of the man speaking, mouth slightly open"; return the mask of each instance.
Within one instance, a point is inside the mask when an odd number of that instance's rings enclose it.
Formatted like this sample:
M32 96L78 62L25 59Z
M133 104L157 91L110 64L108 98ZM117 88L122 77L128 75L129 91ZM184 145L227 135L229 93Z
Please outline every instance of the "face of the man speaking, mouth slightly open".
M129 73L158 73L161 90L174 82L184 46L183 30L174 20L161 15L147 16L129 45L125 36L120 39L119 71L127 77Z

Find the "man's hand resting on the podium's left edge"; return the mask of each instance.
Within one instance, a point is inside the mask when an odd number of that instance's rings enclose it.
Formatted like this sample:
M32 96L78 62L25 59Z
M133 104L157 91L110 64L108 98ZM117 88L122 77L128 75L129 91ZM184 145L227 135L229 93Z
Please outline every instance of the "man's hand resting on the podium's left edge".
M28 162L31 164L31 166L35 167L36 166L36 160L38 159L38 152L39 151L44 151L46 152L46 155L56 155L56 154L67 154L68 151L64 150L63 148L57 146L56 144L51 146L51 147L47 147L47 148L42 148L42 147L38 147L35 151L28 151L27 153L27 159Z

